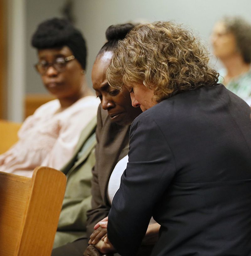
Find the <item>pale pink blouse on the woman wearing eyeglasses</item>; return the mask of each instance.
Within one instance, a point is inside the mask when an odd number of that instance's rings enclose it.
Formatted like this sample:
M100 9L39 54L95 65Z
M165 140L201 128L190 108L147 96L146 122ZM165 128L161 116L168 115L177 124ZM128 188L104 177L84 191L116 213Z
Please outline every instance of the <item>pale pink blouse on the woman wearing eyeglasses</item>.
M58 99L39 107L21 126L19 141L0 155L0 171L31 177L40 165L61 169L99 103L95 96L87 96L61 112Z

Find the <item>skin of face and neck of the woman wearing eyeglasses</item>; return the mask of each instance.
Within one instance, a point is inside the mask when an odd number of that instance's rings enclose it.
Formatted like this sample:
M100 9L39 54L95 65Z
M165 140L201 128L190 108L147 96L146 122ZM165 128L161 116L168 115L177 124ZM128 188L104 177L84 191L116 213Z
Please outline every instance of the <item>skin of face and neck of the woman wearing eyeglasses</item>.
M52 63L56 58L66 58L73 55L67 46L38 50L39 61ZM59 99L61 109L65 109L82 97L93 95L88 88L83 68L77 59L67 62L63 72L58 72L50 66L44 75L41 75L45 88Z

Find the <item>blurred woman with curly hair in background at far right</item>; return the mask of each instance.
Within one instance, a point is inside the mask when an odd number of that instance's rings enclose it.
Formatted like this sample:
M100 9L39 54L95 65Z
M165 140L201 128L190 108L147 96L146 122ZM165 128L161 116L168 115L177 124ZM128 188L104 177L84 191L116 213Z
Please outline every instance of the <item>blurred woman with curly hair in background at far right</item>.
M211 35L213 53L225 70L219 83L251 104L251 24L238 17L218 21Z

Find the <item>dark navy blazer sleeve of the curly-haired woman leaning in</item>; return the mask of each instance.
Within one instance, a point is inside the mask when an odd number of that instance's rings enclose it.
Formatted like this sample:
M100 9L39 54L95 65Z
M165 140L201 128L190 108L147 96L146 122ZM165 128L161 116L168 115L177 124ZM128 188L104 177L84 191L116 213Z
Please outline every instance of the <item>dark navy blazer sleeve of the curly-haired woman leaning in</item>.
M135 255L147 231L155 203L175 174L166 137L145 112L130 131L129 160L113 198L107 236L121 255Z

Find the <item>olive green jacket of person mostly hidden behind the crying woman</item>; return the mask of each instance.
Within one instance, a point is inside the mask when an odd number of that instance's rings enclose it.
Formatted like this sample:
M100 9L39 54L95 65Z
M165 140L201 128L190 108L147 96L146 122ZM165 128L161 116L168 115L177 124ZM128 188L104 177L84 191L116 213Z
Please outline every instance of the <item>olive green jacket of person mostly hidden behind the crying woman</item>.
M86 236L86 212L91 208L97 117L82 131L72 159L61 169L67 177L65 197L53 248Z

